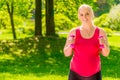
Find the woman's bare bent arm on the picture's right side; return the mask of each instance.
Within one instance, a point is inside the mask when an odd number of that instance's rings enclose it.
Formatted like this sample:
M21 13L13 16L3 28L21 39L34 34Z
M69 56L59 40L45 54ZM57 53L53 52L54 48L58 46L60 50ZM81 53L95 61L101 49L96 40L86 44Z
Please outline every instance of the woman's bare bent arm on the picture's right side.
M103 29L100 29L100 35L103 36L103 38L100 39L100 43L104 45L104 48L102 48L102 55L107 57L110 53L107 34Z

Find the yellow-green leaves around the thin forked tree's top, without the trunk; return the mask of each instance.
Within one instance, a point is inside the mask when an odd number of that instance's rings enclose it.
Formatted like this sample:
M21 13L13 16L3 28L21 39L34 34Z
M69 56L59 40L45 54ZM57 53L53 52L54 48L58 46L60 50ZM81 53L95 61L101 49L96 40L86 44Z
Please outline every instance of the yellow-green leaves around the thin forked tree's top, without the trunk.
M0 10L6 11L6 2L14 2L14 15L30 18L32 11L35 8L34 0L0 0Z

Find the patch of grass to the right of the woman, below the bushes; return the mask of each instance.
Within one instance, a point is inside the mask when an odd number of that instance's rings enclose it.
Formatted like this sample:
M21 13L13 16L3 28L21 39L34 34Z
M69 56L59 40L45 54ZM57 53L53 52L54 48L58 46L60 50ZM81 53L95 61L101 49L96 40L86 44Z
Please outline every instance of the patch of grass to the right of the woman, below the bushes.
M111 35L108 40L110 55L101 56L103 80L120 80L120 35Z

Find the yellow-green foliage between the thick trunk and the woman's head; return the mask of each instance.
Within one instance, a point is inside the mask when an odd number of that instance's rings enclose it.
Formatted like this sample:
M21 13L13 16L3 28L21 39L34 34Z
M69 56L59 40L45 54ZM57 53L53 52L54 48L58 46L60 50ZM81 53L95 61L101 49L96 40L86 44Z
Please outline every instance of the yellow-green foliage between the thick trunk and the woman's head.
M72 21L78 20L77 11L81 4L89 4L96 10L94 0L55 0L55 14L61 13Z

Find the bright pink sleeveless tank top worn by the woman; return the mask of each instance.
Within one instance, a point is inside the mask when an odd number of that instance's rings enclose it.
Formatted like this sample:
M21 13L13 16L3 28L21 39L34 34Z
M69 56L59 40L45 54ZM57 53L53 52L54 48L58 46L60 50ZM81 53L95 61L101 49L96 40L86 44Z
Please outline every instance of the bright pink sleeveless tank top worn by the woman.
M76 29L76 41L70 69L81 76L92 76L101 69L98 36L99 28L97 27L94 35L89 39L83 38L80 29Z

